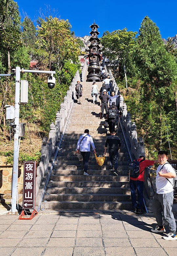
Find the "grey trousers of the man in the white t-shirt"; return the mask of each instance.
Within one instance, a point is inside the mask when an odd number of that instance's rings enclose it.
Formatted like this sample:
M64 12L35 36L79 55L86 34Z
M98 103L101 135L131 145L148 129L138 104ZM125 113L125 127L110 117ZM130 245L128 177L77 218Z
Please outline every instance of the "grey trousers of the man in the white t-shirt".
M152 211L155 215L157 225L162 226L168 224L169 230L176 233L176 223L172 212L173 206L173 191L166 194L155 194L152 202ZM162 218L162 211L164 212L164 223Z

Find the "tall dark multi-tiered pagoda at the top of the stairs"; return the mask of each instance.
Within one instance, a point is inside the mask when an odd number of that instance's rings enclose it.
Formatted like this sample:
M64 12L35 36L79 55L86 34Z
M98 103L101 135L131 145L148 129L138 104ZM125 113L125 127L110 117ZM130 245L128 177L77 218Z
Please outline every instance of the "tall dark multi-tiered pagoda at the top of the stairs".
M99 32L97 29L99 26L95 22L90 26L91 28L91 37L89 41L91 44L88 46L89 53L89 66L88 66L88 75L86 82L101 82L100 78L100 68L99 62L101 60L101 46L98 44L100 39L98 39Z

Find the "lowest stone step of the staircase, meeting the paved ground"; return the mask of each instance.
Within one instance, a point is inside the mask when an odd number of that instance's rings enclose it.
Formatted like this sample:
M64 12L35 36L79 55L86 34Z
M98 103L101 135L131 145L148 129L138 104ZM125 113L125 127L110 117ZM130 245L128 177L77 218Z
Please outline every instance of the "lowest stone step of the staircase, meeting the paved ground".
M91 210L117 210L117 209L132 209L131 202L42 202L44 209L91 209Z

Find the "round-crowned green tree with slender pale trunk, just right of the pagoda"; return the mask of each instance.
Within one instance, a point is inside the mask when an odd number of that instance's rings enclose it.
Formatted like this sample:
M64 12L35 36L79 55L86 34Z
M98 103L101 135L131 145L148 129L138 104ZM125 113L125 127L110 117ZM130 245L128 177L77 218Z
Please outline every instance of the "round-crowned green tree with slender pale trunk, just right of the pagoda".
M122 62L125 83L127 86L126 59L135 44L135 35L137 32L127 31L127 29L116 30L111 33L105 33L101 39L103 52L110 60Z

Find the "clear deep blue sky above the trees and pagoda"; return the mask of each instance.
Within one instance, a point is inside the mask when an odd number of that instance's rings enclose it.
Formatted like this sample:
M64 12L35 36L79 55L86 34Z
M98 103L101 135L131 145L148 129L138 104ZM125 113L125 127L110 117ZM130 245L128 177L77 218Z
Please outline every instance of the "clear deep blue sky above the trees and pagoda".
M23 18L27 15L36 21L41 13L52 17L68 19L76 36L89 35L89 26L95 21L100 35L108 30L127 28L128 31L139 31L141 22L148 16L156 23L162 38L177 34L176 10L177 1L165 0L17 0ZM53 12L53 10L55 10Z

